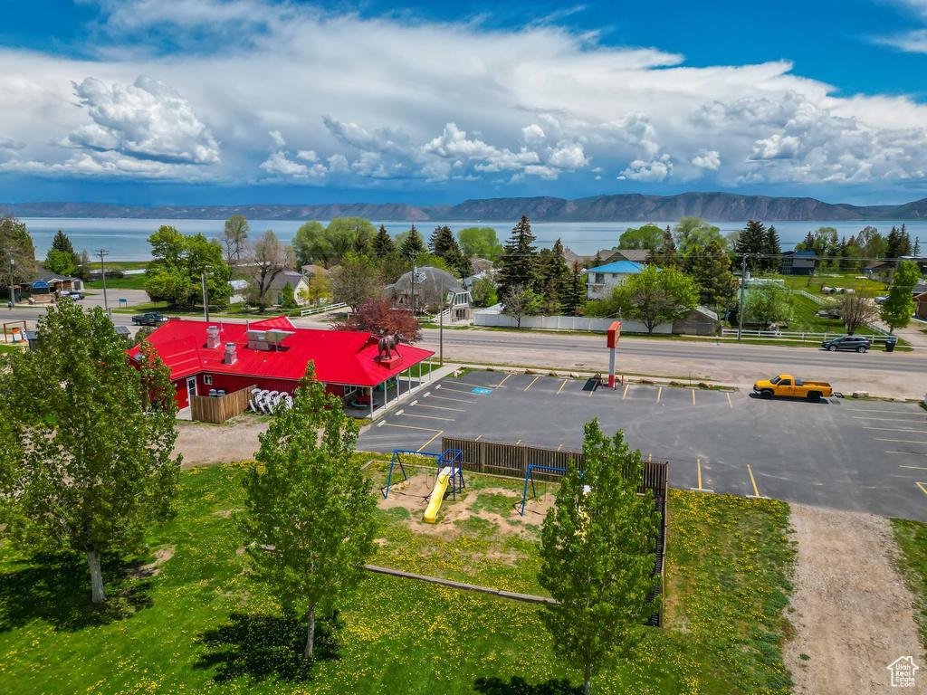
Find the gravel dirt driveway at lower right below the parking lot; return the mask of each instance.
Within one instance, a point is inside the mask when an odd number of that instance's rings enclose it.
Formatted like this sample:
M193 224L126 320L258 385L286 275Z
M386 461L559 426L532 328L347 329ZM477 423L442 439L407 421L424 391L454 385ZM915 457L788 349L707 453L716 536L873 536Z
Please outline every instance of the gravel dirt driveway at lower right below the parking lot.
M792 505L791 522L798 555L786 614L795 637L784 657L794 692L891 691L888 664L902 656L925 663L914 597L895 569L891 525L800 504Z

